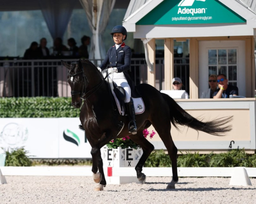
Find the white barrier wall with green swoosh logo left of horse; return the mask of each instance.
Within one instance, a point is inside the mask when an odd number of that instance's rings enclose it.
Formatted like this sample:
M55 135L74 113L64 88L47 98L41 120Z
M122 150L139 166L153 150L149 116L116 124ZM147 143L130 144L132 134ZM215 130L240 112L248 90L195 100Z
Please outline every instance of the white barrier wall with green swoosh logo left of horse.
M79 118L1 118L0 147L24 147L30 158L92 158L79 124Z

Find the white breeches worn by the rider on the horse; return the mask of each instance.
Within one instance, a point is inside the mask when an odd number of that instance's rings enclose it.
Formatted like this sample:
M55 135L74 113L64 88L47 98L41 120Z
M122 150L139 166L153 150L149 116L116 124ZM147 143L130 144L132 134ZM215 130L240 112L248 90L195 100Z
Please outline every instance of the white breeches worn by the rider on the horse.
M121 86L124 88L124 91L126 93L124 103L129 103L130 98L131 98L131 89L130 89L130 86L129 86L125 76L124 76L124 73L123 72L120 72L120 73L115 72L113 74L108 75L108 77L110 79L112 79L112 81L114 81L118 86Z

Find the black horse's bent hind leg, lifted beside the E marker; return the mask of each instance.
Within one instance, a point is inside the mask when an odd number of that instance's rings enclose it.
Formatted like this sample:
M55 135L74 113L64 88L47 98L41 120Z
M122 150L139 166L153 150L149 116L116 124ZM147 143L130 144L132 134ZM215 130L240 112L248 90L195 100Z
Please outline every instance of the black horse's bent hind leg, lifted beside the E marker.
M137 172L137 178L140 181L140 183L144 184L146 181L146 175L142 173L142 167L145 164L148 156L150 153L154 150L154 145L152 145L148 140L146 140L143 136L142 131L138 131L137 135L131 136L132 141L140 145L140 147L143 150L142 156L140 157L140 160L138 164L135 167L135 170Z

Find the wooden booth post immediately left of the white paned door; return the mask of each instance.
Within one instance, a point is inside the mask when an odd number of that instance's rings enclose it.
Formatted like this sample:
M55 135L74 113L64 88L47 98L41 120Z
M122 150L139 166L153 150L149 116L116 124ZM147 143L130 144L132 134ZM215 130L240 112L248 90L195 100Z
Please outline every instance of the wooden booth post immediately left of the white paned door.
M198 99L199 66L198 66L198 40L191 38L189 56L189 87L190 99Z

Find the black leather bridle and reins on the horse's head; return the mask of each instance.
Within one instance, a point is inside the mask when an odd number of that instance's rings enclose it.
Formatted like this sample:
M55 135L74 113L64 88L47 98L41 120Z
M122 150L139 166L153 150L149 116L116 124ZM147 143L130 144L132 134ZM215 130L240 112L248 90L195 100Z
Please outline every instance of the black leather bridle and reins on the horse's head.
M74 65L74 64L78 65L77 62L72 62L71 63L71 65ZM105 79L108 77L109 74L107 74L105 78L102 77L102 81L86 93L86 81L87 81L87 84L89 84L89 81L88 81L86 75L84 74L84 68L82 67L81 69L82 69L82 71L78 71L77 73L74 73L74 74L70 74L69 73L70 71L68 71L68 75L70 77L80 75L81 73L83 74L82 91L71 91L71 95L80 95L80 99L86 101L95 91L97 91L100 88L100 86L102 85L102 83L105 81ZM96 90L94 90L94 89L96 89ZM93 92L86 97L86 94L90 93L91 91L93 91Z

